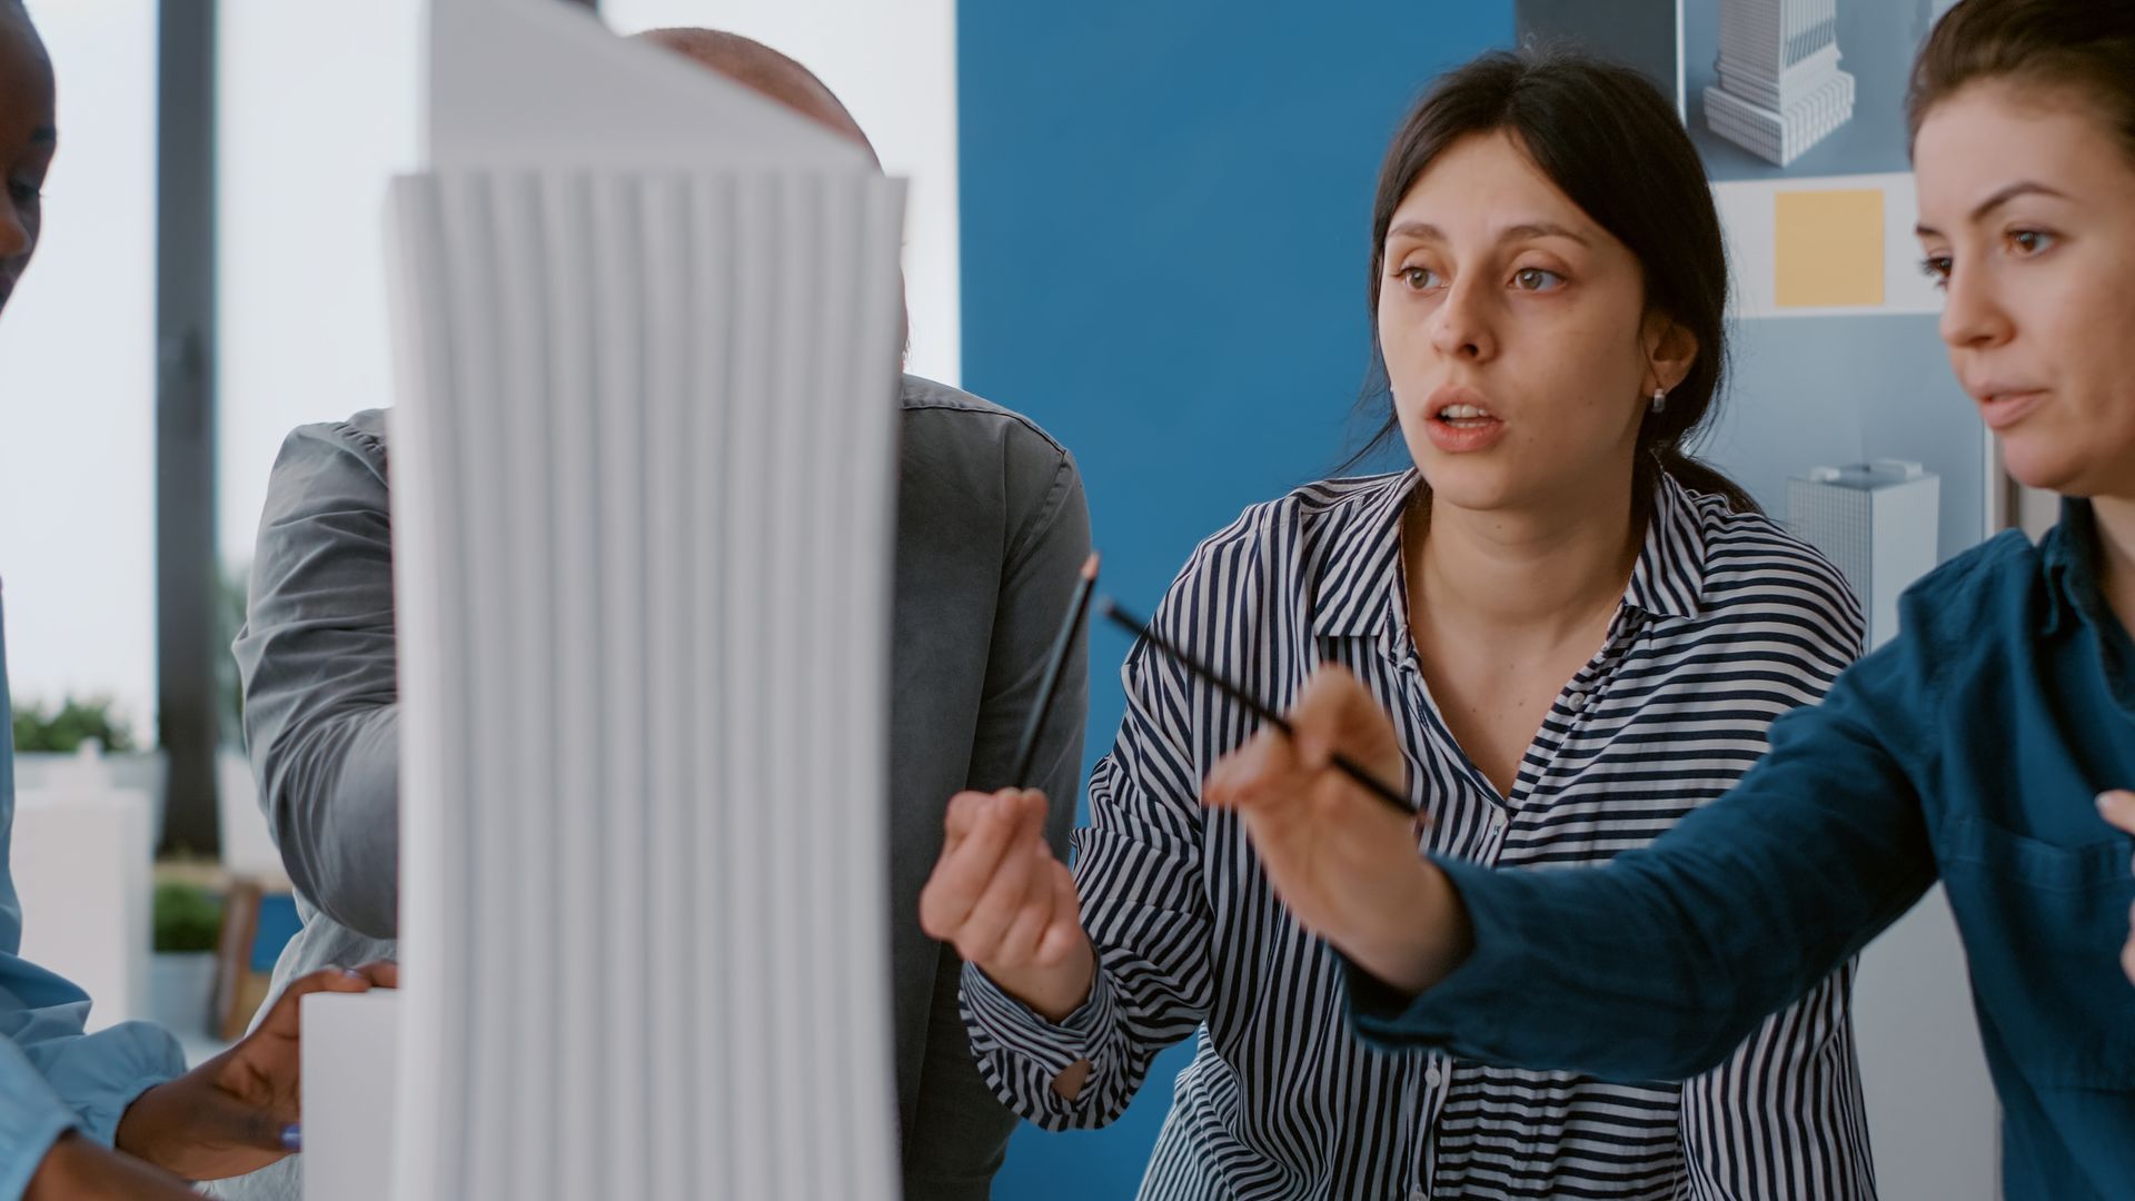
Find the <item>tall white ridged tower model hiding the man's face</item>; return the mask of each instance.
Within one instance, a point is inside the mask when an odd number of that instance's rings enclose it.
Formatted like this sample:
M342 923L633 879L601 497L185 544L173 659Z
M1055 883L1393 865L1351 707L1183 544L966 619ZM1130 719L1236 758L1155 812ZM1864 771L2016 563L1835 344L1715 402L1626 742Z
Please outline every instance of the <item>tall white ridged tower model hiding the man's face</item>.
M901 184L557 0L431 56L391 1195L895 1197Z

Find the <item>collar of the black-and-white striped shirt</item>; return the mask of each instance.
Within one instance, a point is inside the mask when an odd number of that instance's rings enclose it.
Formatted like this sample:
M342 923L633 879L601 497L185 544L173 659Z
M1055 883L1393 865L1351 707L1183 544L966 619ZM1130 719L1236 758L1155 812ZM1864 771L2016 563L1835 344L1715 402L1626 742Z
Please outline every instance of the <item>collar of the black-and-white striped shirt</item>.
M1313 633L1369 637L1401 633L1401 515L1420 474L1409 468L1369 481L1337 504L1328 536L1315 539ZM1623 603L1652 618L1695 618L1706 590L1706 534L1697 502L1672 477L1652 489L1646 539Z

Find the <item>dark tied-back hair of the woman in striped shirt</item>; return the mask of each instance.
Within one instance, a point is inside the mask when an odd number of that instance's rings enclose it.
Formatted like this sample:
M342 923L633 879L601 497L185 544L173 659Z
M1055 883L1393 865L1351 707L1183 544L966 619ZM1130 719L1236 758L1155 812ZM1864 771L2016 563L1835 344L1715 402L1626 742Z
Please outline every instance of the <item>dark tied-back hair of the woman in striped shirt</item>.
M1755 513L1757 502L1738 483L1682 449L1712 415L1727 359L1727 244L1704 162L1674 105L1644 75L1584 53L1486 53L1439 79L1401 124L1371 205L1373 338L1364 402L1377 406L1392 391L1377 327L1394 209L1439 154L1486 132L1509 132L1571 203L1623 241L1644 271L1646 308L1697 338L1691 374L1638 432L1638 502L1644 504L1659 468L1693 492ZM1347 466L1398 430L1388 415Z

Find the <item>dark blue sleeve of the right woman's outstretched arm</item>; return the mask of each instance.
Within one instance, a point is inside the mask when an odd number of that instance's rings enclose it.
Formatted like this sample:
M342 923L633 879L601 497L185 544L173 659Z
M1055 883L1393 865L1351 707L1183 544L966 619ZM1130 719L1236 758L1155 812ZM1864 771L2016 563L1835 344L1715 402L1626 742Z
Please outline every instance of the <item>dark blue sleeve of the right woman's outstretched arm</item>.
M1418 998L1347 966L1381 1045L1601 1079L1685 1079L1804 996L1936 878L1915 780L1934 720L1919 639L1864 658L1772 724L1719 801L1599 870L1439 861L1475 932Z

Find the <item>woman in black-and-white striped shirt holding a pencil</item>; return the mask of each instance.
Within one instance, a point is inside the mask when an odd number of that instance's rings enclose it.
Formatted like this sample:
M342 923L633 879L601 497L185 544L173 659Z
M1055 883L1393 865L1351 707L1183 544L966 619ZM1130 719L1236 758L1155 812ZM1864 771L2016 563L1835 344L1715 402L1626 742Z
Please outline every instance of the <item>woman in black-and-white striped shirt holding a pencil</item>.
M1373 246L1381 438L1413 470L1249 509L1155 622L1279 707L1324 662L1354 671L1398 714L1418 851L1644 846L1860 643L1836 571L1682 453L1727 291L1697 154L1629 71L1488 56L1396 135ZM1149 1199L1872 1195L1849 970L1682 1083L1371 1049L1339 957L1202 808L1255 722L1149 643L1123 677L1074 872L1044 797L965 793L922 893L1006 1105L1102 1126L1200 1030Z

